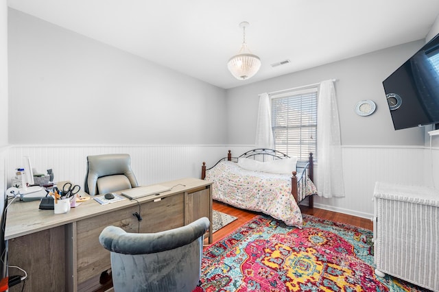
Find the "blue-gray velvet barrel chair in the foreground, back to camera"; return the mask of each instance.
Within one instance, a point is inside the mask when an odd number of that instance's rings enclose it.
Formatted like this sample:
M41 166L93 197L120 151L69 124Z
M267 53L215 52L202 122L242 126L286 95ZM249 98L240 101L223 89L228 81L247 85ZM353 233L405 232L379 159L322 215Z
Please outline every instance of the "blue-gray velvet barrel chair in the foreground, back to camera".
M110 251L112 283L118 291L192 291L201 274L202 217L187 226L157 233L127 233L108 226L99 242Z

